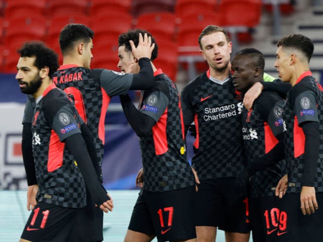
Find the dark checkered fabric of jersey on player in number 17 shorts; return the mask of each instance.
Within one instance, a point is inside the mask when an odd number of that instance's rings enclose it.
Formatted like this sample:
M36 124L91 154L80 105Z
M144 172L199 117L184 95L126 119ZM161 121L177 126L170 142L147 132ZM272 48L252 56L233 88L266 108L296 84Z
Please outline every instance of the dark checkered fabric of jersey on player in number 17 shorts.
M140 148L144 169L144 189L152 192L164 192L193 186L194 175L184 152L185 140L181 122L180 95L173 81L165 74L155 76L155 86L143 93L145 100L149 93L162 90L159 85L167 83L169 104L163 115L167 115L166 137L168 150L156 155L153 133L140 137ZM140 106L141 107L141 106ZM160 123L161 119L157 123ZM156 124L158 125L158 124ZM155 126L156 126L155 125ZM155 134L158 136L158 134ZM182 154L181 154L182 150Z

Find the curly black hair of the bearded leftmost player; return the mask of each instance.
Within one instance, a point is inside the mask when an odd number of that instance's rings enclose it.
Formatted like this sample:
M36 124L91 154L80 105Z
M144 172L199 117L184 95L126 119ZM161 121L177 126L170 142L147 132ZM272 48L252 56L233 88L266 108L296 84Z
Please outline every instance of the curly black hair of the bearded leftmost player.
M38 69L48 67L48 76L51 79L53 74L59 68L58 54L52 49L48 48L43 42L31 41L26 42L18 49L18 54L21 57L33 57L35 56L34 66Z

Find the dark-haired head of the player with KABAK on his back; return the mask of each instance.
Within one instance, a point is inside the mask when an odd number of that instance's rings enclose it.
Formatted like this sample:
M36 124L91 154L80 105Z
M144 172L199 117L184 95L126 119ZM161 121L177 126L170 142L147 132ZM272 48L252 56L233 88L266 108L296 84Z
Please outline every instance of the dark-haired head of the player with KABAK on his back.
M93 58L94 32L84 24L68 24L60 33L60 47L63 56L80 58L82 66L90 68Z

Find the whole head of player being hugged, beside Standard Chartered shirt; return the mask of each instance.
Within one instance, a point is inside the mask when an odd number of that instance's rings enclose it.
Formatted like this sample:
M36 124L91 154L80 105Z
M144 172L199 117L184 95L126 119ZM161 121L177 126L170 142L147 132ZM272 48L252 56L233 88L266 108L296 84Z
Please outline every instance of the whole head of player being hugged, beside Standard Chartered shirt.
M246 92L255 82L263 79L263 54L255 48L242 49L234 56L231 68L235 88Z

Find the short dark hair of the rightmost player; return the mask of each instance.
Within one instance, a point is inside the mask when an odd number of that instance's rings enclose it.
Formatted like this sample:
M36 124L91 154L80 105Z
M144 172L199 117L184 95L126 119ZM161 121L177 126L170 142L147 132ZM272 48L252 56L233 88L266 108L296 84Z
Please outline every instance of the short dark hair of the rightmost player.
M314 51L313 42L308 37L301 34L291 34L282 38L277 42L277 47L279 46L300 50L307 57L308 63Z

